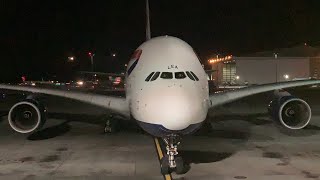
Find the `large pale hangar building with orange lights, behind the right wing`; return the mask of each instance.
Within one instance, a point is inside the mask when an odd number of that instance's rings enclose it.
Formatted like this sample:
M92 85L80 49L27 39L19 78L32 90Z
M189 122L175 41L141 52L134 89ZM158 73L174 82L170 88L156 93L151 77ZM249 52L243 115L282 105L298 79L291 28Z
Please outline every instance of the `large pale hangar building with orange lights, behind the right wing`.
M216 85L254 85L320 78L320 48L307 45L210 59Z

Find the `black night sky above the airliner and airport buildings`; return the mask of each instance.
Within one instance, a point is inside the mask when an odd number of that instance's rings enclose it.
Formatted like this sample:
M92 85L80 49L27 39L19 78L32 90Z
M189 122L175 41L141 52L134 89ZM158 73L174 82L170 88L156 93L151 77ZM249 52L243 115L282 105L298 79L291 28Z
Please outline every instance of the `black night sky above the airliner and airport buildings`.
M0 3L0 81L89 70L88 51L96 70L119 71L145 39L144 0ZM202 60L320 42L319 0L150 0L150 11L152 36L179 37Z

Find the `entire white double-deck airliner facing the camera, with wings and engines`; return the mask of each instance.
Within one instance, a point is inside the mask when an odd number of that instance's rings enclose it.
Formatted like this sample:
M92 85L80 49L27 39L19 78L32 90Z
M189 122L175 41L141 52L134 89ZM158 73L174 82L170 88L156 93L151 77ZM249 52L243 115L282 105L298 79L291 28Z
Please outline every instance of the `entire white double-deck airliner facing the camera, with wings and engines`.
M146 0L147 17L149 3ZM8 113L10 127L18 133L34 133L46 122L45 105L38 94L65 97L103 107L112 112L106 131L113 132L114 117L135 120L152 136L166 145L161 159L161 173L183 173L184 163L178 145L184 135L196 132L205 122L208 111L237 99L272 90L319 84L320 80L300 80L255 85L209 95L208 81L198 56L185 41L172 37L151 38L147 18L147 41L133 53L125 75L125 97L85 92L1 84L0 89L30 92L13 105ZM290 94L277 96L269 105L273 118L292 130L302 129L311 119L310 106Z

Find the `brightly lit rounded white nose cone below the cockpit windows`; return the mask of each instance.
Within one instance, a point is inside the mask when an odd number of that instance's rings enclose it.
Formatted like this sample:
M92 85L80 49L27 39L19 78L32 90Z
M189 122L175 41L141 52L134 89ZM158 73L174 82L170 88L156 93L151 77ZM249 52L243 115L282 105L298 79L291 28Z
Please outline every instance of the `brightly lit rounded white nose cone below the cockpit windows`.
M169 89L156 94L146 94L139 103L136 116L153 124L160 124L169 130L183 130L191 124L202 122L207 114L204 101L182 88Z

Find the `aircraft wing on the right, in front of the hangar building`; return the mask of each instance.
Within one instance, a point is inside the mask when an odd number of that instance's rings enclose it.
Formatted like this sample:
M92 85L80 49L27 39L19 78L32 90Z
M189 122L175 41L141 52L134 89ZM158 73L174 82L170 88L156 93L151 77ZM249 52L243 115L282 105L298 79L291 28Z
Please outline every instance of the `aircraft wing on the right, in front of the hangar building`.
M230 90L230 91L210 95L209 106L210 108L213 108L213 107L223 105L246 96L251 96L258 93L272 91L275 89L313 85L313 84L320 84L320 80L306 80L306 81L300 80L300 81L270 83L270 84L250 86L250 87L236 89L236 90Z

